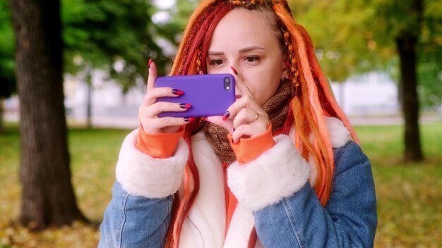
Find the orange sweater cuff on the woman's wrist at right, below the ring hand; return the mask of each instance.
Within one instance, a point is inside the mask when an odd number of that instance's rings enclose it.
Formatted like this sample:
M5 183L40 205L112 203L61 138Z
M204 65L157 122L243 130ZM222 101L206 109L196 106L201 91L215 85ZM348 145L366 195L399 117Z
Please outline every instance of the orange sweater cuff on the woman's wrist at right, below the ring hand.
M241 138L237 144L232 142L232 135L229 133L227 135L229 139L230 146L232 147L235 155L237 156L237 161L239 164L249 163L250 161L261 156L264 151L272 148L275 145L275 140L273 140L272 126L269 125L267 131L262 135L258 135L250 138Z

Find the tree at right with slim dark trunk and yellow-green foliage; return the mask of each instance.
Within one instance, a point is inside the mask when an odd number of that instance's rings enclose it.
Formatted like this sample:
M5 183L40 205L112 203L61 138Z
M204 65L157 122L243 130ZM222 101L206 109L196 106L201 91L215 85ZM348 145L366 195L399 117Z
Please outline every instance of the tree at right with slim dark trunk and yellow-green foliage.
M298 0L292 1L292 9L309 30L331 80L373 70L398 80L405 119L404 158L422 160L417 89L420 85L440 91L436 85L441 84L441 1ZM418 83L419 78L426 80ZM432 96L434 104L440 104L441 94Z

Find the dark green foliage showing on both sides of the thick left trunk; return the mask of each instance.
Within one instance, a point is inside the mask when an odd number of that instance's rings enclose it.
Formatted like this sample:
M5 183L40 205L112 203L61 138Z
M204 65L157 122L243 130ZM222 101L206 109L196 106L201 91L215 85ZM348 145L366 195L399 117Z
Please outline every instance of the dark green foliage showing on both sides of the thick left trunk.
M61 0L61 6L64 73L78 75L90 91L93 90L90 74L97 69L107 71L121 85L124 94L136 85L137 79L147 79L149 58L155 60L160 73L167 73L172 59L162 54L157 41L160 37L166 40L174 37L180 29L153 23L150 16L157 9L150 1ZM9 8L6 1L0 1L0 101L4 99L1 96L6 96L2 92L13 92L15 85L11 77L12 34ZM115 63L122 65L120 70L116 70ZM87 104L89 110L91 104L92 101Z

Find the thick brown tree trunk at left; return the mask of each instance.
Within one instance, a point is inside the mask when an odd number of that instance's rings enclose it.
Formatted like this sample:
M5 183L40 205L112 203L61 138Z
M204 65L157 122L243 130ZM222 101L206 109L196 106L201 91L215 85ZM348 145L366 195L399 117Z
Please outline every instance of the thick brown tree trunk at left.
M71 185L64 114L60 1L11 0L20 97L20 222L86 221Z

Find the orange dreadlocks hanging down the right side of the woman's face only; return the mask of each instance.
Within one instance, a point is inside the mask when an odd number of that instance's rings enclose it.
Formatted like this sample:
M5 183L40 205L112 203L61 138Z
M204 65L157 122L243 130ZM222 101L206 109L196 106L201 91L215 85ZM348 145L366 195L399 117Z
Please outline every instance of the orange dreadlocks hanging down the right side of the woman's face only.
M292 100L297 130L295 141L304 158L310 159L306 157L305 150L313 154L311 159L316 162L318 171L314 190L321 204L325 206L330 197L335 164L324 116L339 118L350 130L355 141L357 137L329 89L328 81L316 59L309 34L304 27L294 22L292 15L287 11L287 3L274 4L273 10L280 18L282 25L287 28L289 37L293 38L289 43L294 49L296 61L290 62L297 63L299 88L303 92L300 97L294 97ZM314 137L313 141L310 140L311 135Z

